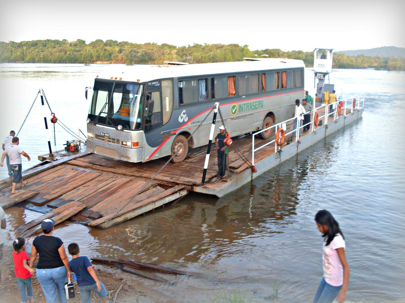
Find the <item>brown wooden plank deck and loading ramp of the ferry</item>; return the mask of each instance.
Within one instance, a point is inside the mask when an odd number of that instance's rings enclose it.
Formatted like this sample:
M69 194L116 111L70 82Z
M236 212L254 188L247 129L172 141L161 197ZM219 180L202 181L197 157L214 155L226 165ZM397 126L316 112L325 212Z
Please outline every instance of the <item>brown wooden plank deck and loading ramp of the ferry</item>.
M318 110L318 114L322 116L324 109ZM347 109L346 114L350 115L350 109ZM340 116L336 122L340 119L345 119L345 116ZM328 123L333 120L333 117L329 117ZM301 139L313 133L312 124L310 126L307 133L301 134ZM293 122L290 121L286 133L292 128ZM273 139L274 135L268 140L255 139L255 147ZM287 139L288 137L285 142ZM236 153L235 146L252 161L252 137L245 136L234 140L228 154L231 172L228 180L217 181L217 155L214 145L205 185L200 186L206 147L191 151L183 162L169 163L138 196L135 196L136 193L166 163L166 158L145 163L129 163L87 151L80 152L26 170L23 177L28 184L23 189L17 187L17 194L11 195L11 179L3 180L0 183L0 192L3 195L0 197L0 206L6 208L20 202L28 208L42 206L44 215L19 228L24 236L36 234L40 222L46 218L53 218L56 223L70 218L86 225L107 228L168 202L177 202L189 191L215 194L222 188L230 187L229 184L234 184L232 190L237 189L244 184L238 181L241 173L247 173L251 169L250 164ZM286 143L283 148L286 148ZM275 143L269 144L255 153L255 163L275 153ZM229 191L231 190L228 188L226 192Z

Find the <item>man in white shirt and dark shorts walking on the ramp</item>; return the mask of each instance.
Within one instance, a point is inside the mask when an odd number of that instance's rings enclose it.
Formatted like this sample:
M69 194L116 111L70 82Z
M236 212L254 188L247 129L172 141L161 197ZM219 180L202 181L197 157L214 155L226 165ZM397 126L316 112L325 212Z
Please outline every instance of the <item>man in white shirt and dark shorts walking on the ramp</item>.
M4 158L6 156L9 156L11 169L13 170L13 189L11 190L11 194L15 194L17 193L17 191L15 190L17 183L20 183L21 187L26 186L26 184L28 183L28 181L26 182L23 181L23 177L21 174L22 173L21 155L28 158L28 161L31 161L31 158L30 156L28 156L28 154L26 154L25 151L23 151L21 146L18 146L20 143L18 137L14 137L11 142L13 144L7 146L6 149L4 150L4 153L1 157L0 166L3 167Z

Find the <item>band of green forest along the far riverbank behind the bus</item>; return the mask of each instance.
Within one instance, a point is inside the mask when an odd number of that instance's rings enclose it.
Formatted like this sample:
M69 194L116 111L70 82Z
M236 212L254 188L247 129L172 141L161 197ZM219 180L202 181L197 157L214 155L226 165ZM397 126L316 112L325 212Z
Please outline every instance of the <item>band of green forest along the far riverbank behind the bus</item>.
M239 44L193 44L174 46L156 43L130 43L115 40L96 40L86 44L84 40L33 40L0 42L0 62L11 63L124 63L163 64L163 61L210 63L242 61L243 57L269 57L301 59L312 67L313 52L280 49L249 50ZM381 70L405 70L405 58L333 55L334 68L375 68Z

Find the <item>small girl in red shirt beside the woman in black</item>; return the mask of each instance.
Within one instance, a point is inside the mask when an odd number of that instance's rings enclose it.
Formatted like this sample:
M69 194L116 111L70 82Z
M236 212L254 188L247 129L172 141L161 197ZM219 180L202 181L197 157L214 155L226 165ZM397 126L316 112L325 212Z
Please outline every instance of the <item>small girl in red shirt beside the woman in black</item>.
M35 269L28 266L27 261L30 260L25 251L24 238L17 238L13 241L13 261L14 274L17 280L18 290L21 295L22 303L33 303L34 295L32 293L31 277L35 273Z

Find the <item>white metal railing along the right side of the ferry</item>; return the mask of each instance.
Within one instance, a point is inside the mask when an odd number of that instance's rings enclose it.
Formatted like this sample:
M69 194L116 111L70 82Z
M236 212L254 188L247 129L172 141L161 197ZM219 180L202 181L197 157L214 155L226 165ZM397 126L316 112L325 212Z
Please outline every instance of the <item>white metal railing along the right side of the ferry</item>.
M355 103L355 105L353 107L353 100L354 99L356 100L356 103ZM337 112L337 105L339 103L341 103L341 102L344 103L344 107L341 107L341 110L343 111L343 113L341 113L341 115L339 116L338 112ZM332 106L332 110L329 112L329 109L330 109L331 106ZM325 107L325 112L324 112L324 114L322 116L318 117L318 120L321 120L322 118L325 118L324 119L324 121L325 121L324 125L326 125L326 124L328 124L328 117L330 117L330 116L333 116L333 120L338 120L339 118L346 116L347 115L347 110L346 110L347 108L350 109L351 113L356 109L358 110L358 109L364 108L364 93L361 93L361 94L358 94L358 95L352 96L352 97L347 97L345 99L338 99L335 103L322 104L319 107L315 107L315 103L314 103L314 107L310 111L308 111L308 112L306 112L304 114L304 115L312 114L311 115L312 120L309 121L306 124L303 124L302 126L300 126L299 124L301 124L301 123L297 121L297 127L295 127L295 128L293 127L293 130L289 131L288 133L285 133L284 136L287 137L288 135L296 132L295 133L295 139L296 139L296 141L298 141L298 139L299 139L299 137L301 135L301 129L303 129L305 126L308 126L308 125L311 125L311 124L312 124L312 128L311 127L310 128L311 128L311 132L313 132L317 128L317 126L315 126L315 124L313 123L314 118L315 118L315 113L318 112L320 109L322 109L324 107ZM273 128L274 128L274 133L275 134L277 134L277 129L279 129L279 128L283 128L283 130L285 131L286 128L287 128L286 127L287 122L289 122L291 120L294 120L294 119L295 119L294 117L290 118L290 119L287 119L287 120L285 120L285 121L283 121L281 123L274 124L274 125L272 125L272 126L270 126L268 128L264 128L262 130L259 130L256 133L252 134L252 165L254 165L254 153L255 153L255 151L258 151L259 149L262 149L263 147L266 147L267 145L270 145L270 144L274 143L274 149L275 149L274 151L277 152L276 139L273 139L273 140L271 140L271 141L269 141L267 143L264 143L263 145L255 148L255 145L254 145L255 136L262 133L262 132L265 132L267 130L271 130Z

